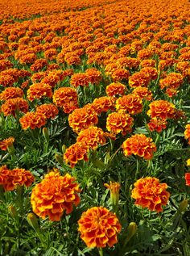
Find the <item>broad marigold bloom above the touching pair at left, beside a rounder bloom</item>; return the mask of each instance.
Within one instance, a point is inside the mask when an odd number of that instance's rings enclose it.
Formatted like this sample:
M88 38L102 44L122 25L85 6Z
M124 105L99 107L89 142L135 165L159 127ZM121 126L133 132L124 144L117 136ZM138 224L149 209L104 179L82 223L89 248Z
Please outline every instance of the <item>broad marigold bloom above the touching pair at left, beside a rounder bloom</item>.
M39 82L31 85L27 90L27 99L30 101L43 97L52 98L52 86Z

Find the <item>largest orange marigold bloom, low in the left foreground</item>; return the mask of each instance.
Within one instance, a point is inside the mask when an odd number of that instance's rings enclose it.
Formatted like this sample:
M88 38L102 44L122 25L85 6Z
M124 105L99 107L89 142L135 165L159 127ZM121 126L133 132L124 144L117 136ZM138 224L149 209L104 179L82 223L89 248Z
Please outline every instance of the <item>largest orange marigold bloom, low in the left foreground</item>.
M75 178L69 174L60 176L58 170L51 171L31 192L33 212L42 219L48 216L52 221L60 221L65 211L71 213L73 205L80 203L79 192Z

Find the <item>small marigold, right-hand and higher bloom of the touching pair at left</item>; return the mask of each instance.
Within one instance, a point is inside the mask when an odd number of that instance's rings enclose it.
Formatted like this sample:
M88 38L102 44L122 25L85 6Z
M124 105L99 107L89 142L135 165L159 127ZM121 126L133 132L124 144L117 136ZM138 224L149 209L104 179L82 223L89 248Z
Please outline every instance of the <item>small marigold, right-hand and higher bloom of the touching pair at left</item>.
M58 115L59 110L58 108L53 104L43 104L36 108L36 114L37 115L44 115L45 118L54 119L56 115Z

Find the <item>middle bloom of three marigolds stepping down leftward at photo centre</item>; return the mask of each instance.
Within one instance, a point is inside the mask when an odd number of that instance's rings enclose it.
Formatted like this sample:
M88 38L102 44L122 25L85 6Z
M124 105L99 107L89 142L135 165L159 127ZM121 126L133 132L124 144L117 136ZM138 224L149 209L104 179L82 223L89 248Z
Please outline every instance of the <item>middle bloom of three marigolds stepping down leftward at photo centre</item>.
M77 142L82 142L91 149L97 149L98 144L105 144L105 134L101 128L96 126L89 127L85 130L82 130L77 139Z

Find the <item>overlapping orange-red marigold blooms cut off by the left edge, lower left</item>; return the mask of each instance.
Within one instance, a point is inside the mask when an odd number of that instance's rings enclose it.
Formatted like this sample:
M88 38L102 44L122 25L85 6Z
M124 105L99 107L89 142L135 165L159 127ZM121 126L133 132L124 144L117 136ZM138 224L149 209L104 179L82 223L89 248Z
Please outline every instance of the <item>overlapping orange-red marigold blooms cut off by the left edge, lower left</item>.
M18 186L30 187L35 181L29 170L14 168L9 170L6 166L0 167L0 185L5 191L14 191Z

